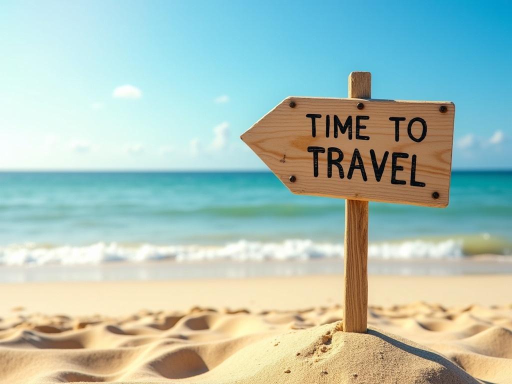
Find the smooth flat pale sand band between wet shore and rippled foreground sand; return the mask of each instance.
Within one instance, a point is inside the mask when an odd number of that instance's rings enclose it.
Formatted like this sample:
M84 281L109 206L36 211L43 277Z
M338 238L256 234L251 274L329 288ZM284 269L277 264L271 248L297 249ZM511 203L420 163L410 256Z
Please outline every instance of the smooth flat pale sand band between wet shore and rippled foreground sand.
M443 306L510 305L512 275L369 276L369 305L412 302ZM343 275L188 279L176 281L103 281L2 283L6 292L0 316L19 313L117 316L140 311L188 311L192 307L297 310L340 305ZM16 310L13 310L16 309Z

